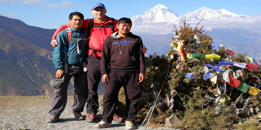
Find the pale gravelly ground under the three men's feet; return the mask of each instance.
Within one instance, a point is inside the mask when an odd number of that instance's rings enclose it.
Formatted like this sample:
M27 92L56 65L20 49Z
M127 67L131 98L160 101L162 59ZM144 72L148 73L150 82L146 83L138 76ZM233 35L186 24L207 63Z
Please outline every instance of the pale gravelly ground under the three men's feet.
M30 130L96 130L93 127L102 120L102 107L96 116L95 123L89 123L85 120L75 120L70 116L70 105L73 103L73 96L68 96L68 102L60 120L56 123L46 123L49 114L52 97L50 96L0 96L0 130L6 129L30 129ZM101 103L102 96L99 96ZM86 115L86 108L83 115ZM112 126L102 130L121 130L125 129L124 123L112 122ZM143 130L145 127L139 127L135 124L137 130ZM147 128L150 129L150 128Z

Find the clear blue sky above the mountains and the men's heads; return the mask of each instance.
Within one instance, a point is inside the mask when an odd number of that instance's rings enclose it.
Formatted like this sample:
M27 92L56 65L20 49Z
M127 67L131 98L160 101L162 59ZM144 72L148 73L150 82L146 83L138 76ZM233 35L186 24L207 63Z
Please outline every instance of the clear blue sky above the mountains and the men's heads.
M98 2L104 3L106 15L116 19L142 14L159 3L180 15L202 7L226 9L247 16L261 15L260 0L0 0L0 15L19 19L31 26L54 29L68 23L68 15L71 12L78 11L84 14L85 18L92 18L91 7Z

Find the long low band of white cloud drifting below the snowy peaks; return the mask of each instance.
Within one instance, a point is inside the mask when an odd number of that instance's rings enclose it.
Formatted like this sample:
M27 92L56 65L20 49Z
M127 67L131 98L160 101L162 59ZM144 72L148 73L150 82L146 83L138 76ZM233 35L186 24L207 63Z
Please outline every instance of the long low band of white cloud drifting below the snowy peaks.
M195 27L197 22L188 22L191 27ZM204 25L203 30L212 31L212 29L253 29L261 27L261 16L252 16L249 18L212 18L209 21L202 21L198 27ZM170 34L174 30L173 25L149 25L134 26L131 28L133 33L137 34ZM182 24L175 24L179 29Z

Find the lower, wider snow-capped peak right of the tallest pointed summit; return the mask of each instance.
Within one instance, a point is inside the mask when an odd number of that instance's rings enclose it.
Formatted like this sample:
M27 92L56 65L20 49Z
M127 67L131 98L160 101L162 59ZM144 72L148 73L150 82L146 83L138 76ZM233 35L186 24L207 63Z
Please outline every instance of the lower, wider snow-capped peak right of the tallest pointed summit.
M187 14L179 17L177 20L174 20L173 22L170 23L165 23L165 24L172 24L172 23L182 23L182 20L184 20L186 17L186 20L188 22L190 21L200 21L202 18L204 21L208 21L212 18L248 18L249 16L246 15L238 15L232 12L229 12L225 9L221 10L211 10L209 8L203 7L200 8L199 10L196 10L194 12L188 12Z

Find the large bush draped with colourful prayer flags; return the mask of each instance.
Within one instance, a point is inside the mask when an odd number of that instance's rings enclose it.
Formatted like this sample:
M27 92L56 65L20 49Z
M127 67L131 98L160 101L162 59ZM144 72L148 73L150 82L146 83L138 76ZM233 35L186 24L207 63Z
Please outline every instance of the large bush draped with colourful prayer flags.
M177 54L179 59L175 62L176 68L173 68L173 78L169 81L170 90L166 101L172 101L168 104L173 108L175 94L171 93L174 91L183 96L185 101L182 102L183 107L187 103L190 104L185 109L218 107L215 109L218 113L220 107L229 106L236 114L240 114L246 107L238 105L238 98L245 98L244 106L249 103L249 99L251 102L259 102L261 99L259 79L261 62L246 56L246 53L238 54L222 44L214 44L212 38L206 35L202 28L203 26L200 29L196 26L193 29L186 22L180 29L175 26L175 36L170 42L171 49L168 55L172 59L173 55ZM198 100L193 101L197 103L189 101L196 93ZM210 101L200 101L203 97ZM212 99L215 101L211 102ZM260 107L260 104L254 105Z

